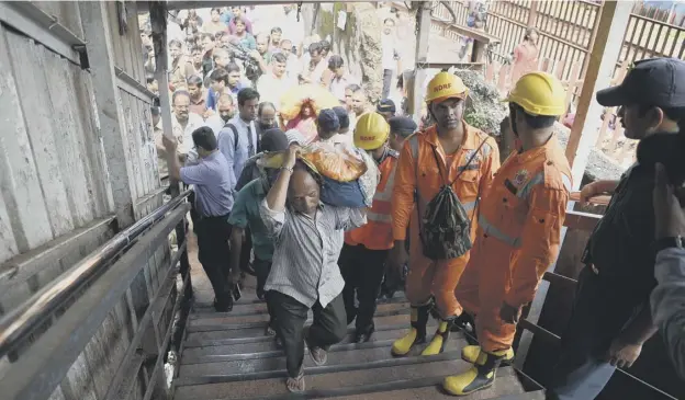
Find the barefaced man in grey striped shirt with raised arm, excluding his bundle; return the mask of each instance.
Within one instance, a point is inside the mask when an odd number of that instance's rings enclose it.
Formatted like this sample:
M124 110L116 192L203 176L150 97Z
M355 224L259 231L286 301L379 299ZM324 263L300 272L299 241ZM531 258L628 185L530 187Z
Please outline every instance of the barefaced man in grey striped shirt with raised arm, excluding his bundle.
M305 389L302 364L308 309L314 312L314 323L306 342L314 364L325 364L326 348L345 338L345 282L337 264L343 248L339 236L341 230L367 222L366 208L321 203L321 184L303 163L295 162L296 151L297 147L291 146L260 205L265 227L276 243L265 290L285 351L285 385L293 392Z

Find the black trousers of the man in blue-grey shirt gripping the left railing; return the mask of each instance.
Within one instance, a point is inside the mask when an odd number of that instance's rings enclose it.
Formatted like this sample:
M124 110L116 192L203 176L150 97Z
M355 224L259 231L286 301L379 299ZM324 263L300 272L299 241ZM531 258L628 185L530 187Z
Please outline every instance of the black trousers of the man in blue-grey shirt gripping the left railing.
M231 225L228 216L196 217L194 221L198 236L198 259L204 273L212 283L216 302L220 306L231 305L229 276L229 247Z

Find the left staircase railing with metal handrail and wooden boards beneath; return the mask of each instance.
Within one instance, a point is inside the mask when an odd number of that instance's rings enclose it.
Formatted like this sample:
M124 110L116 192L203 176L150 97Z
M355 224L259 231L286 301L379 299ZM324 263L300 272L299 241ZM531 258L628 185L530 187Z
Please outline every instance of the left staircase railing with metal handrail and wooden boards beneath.
M3 399L156 398L192 296L186 201L172 198L0 320ZM170 251L176 231L178 250ZM180 272L181 279L178 279ZM176 333L176 334L175 334ZM171 357L173 358L173 357ZM55 395L57 393L57 395Z

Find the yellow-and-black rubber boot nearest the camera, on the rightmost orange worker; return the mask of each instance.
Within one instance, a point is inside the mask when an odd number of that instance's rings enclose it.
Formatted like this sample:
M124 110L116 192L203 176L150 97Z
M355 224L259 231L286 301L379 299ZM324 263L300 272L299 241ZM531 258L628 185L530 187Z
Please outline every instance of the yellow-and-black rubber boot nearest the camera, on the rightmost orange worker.
M481 351L473 367L461 375L448 376L442 387L454 396L467 396L491 387L495 382L495 373L506 352L506 350L493 353Z

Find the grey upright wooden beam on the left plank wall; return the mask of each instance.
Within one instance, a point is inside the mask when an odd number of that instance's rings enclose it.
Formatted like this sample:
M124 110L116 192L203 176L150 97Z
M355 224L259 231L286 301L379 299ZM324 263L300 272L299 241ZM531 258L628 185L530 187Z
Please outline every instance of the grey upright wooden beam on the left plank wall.
M82 1L78 3L83 35L88 37L86 48L90 60L96 108L98 112L100 137L104 147L112 197L120 228L134 222L133 199L135 197L135 180L131 160L126 157L128 142L124 137L124 111L119 96L119 87L114 71L114 49L106 3L101 1Z

